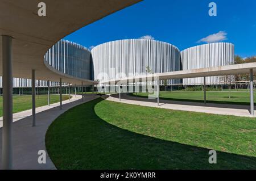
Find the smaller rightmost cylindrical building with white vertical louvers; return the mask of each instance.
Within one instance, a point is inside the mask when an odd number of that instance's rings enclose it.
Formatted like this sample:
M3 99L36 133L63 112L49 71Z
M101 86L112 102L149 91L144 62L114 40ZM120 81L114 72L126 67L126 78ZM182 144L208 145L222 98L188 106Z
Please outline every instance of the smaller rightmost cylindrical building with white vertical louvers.
M210 43L191 47L181 51L181 64L183 70L210 68L234 64L234 45L231 43ZM223 77L207 77L208 85L220 85ZM204 79L185 78L183 85L201 85Z

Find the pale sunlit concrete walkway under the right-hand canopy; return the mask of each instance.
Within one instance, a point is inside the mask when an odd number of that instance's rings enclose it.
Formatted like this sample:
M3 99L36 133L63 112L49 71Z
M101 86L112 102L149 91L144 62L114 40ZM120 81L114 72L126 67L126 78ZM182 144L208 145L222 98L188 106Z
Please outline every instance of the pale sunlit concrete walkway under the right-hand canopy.
M112 94L108 99L114 102L119 102L119 94ZM121 103L134 104L140 106L165 108L179 111L192 111L212 113L218 115L232 115L242 117L252 117L249 111L250 106L235 105L235 104L212 104L212 103L196 103L196 102L180 102L172 100L161 100L159 106L155 99L147 99L127 94L121 94ZM255 112L254 112L255 115Z

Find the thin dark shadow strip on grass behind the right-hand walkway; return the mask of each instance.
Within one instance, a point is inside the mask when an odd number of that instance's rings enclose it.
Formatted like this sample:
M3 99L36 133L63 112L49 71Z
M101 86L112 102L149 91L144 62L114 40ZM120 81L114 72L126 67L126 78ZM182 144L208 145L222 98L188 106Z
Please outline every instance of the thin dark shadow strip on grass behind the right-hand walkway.
M136 96L133 93L129 93L130 96ZM148 98L148 96L144 95L137 95L139 98ZM225 98L229 98L226 96ZM232 96L231 98L237 98L236 96ZM181 101L181 102L195 102L195 103L204 103L204 100L195 100L195 99L180 99L180 98L163 98L160 97L160 100L173 100L173 101ZM207 103L213 104L235 104L235 105L243 105L243 106L250 106L250 103L246 102L232 102L232 101L224 101L224 100L207 100ZM255 106L255 104L254 104Z

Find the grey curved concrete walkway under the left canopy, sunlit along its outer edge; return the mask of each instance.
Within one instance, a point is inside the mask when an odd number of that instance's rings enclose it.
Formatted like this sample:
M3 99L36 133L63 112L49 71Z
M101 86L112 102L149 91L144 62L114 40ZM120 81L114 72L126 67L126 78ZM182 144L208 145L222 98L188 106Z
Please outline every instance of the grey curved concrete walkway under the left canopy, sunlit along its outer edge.
M14 114L13 123L13 169L48 170L56 169L49 155L46 157L46 164L38 163L38 151L46 150L45 135L49 125L62 113L79 104L98 98L97 95L84 95L84 102L81 95L72 95L73 98L63 101L63 109L59 104L36 108L36 127L32 127L31 110ZM0 128L0 164L2 163L2 128ZM0 169L2 165L0 165Z

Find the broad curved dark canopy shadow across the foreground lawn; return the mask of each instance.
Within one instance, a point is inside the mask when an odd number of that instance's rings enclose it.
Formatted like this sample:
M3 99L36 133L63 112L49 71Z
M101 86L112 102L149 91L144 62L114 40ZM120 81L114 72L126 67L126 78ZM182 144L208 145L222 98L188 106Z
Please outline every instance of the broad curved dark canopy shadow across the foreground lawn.
M57 169L255 169L256 158L160 140L115 127L96 115L101 98L59 116L46 134ZM111 111L111 110L109 110Z

